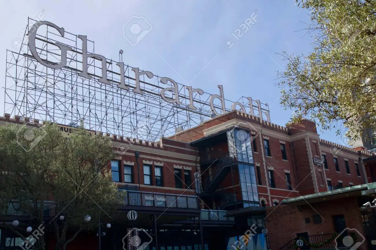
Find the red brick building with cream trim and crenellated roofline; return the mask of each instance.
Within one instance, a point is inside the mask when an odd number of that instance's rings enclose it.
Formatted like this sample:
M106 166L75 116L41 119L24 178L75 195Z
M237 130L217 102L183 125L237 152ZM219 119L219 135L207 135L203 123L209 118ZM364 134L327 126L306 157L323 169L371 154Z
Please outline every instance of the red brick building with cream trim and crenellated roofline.
M0 117L0 125L28 121ZM283 127L231 111L158 142L107 135L118 155L112 178L127 197L119 208L124 216L112 223L102 244L122 249L124 228L130 227L126 212L136 210L137 227L150 228L153 216L156 221L150 249L235 249L252 224L256 235L247 249L294 249L288 242L298 236L316 244L328 238L310 236L339 233L332 219L318 223L335 215L367 236L362 249L370 249L374 235L364 226L374 229L374 217L365 221L361 202L375 193L365 185L376 181L374 155L322 140L315 126L304 119Z

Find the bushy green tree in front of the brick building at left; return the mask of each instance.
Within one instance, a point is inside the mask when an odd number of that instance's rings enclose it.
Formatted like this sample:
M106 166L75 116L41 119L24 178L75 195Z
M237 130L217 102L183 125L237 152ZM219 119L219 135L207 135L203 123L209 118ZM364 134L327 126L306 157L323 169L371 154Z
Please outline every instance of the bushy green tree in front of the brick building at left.
M67 138L51 123L41 128L1 126L0 211L26 216L31 223L3 223L0 228L25 241L30 241L27 225L50 228L55 249L65 250L82 230L97 227L100 217L111 220L121 204L109 170L113 158L111 140L91 136L82 127ZM86 215L91 221L84 220ZM44 233L33 238L35 243L25 248L44 250Z

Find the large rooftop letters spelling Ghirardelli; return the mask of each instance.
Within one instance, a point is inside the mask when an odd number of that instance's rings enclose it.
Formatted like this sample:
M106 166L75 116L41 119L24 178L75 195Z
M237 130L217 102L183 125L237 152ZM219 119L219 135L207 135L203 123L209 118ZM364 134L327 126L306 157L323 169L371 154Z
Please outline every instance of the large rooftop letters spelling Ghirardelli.
M36 33L38 31L38 28L42 25L52 27L53 29L56 30L57 36L60 35L61 37L64 37L64 28L58 27L55 24L48 22L48 21L36 22L30 28L29 34L28 34L28 39L29 39L28 46L29 46L31 54L33 55L35 60L37 60L39 63L41 63L42 65L44 65L48 68L61 69L65 66L67 66L67 51L73 51L73 49L71 47L65 45L65 44L61 44L59 42L53 43L53 45L57 46L60 49L60 60L59 60L58 63L49 62L47 60L42 59L39 56L39 54L37 52L35 40L36 40ZM77 37L82 42L82 70L78 73L78 75L80 77L83 77L83 78L91 79L92 76L88 72L88 59L89 58L95 58L97 60L100 60L101 64L102 64L101 74L100 74L98 81L100 83L113 85L114 82L107 78L106 58L104 56L100 55L100 54L88 53L88 46L87 46L88 40L87 40L86 36L79 35ZM131 70L133 71L133 74L134 74L134 79L135 79L134 86L133 85L131 86L131 84L126 83L126 80L125 80L124 63L123 62L115 62L115 65L118 67L119 72L120 72L120 83L115 83L116 86L119 89L124 89L124 90L132 89L132 91L134 93L141 95L141 96L144 95L145 90L141 89L141 87L140 87L140 77L146 76L147 78L150 78L150 79L155 77L155 75L150 71L140 71L139 68L131 68ZM182 105L182 101L179 98L179 89L178 89L178 84L176 83L176 81L174 81L173 79L168 78L168 77L161 77L160 81L163 84L168 84L169 86L171 86L171 87L167 87L167 88L160 90L159 95L161 96L161 98L165 102L176 104L176 105ZM188 90L188 98L187 99L189 99L189 102L188 102L189 104L187 105L187 107L191 110L197 110L197 107L194 106L193 96L194 95L203 95L203 93L204 93L203 90L202 89L194 89L191 86L185 86L185 88ZM219 89L219 94L211 95L210 98L209 98L209 104L210 104L211 110L217 115L219 115L220 113L218 113L218 111L214 108L214 99L218 99L219 103L220 103L220 105L216 105L216 108L219 107L219 110L221 109L222 114L226 113L223 86L218 85L218 89ZM168 93L168 95L167 95L167 93ZM260 101L252 100L251 97L247 97L247 99L248 100L246 101L246 103L249 101L250 110L246 110L246 108L244 107L244 105L241 102L233 102L232 106L231 106L231 110L238 109L240 111L243 111L244 113L250 113L251 115L254 115L253 114L253 107L256 107L256 109L258 109L259 117L262 119L262 113L264 113L264 114L266 114L267 120L270 122L269 113L268 113L268 111L265 111L265 110L264 110L264 112L262 111ZM255 101L257 105L256 106L253 105L252 101Z

